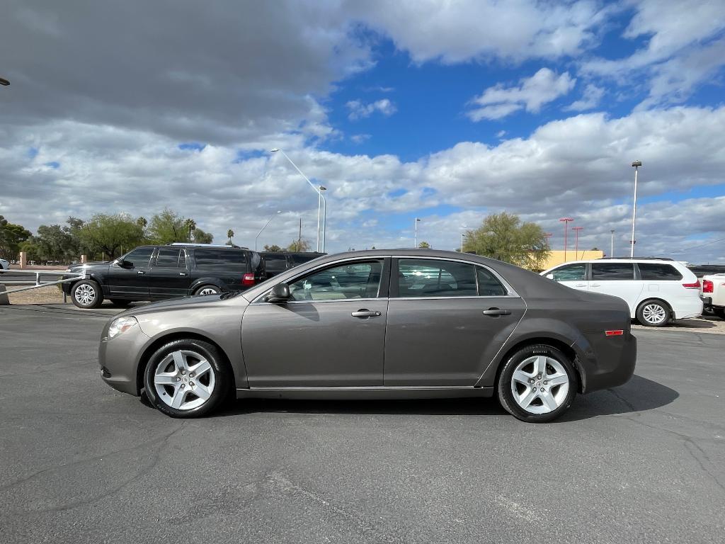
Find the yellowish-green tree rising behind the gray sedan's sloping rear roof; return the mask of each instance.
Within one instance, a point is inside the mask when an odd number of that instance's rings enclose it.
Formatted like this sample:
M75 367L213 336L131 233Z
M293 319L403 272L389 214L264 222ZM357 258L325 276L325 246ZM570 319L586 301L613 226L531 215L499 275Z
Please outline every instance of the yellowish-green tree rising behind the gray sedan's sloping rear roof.
M489 215L475 231L467 231L463 251L530 270L541 270L549 256L544 229L506 212Z

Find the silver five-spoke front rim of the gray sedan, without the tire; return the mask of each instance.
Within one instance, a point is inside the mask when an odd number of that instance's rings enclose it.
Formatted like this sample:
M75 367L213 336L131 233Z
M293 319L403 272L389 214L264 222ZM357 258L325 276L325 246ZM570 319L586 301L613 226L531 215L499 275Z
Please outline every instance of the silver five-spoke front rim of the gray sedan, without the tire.
M209 400L215 387L212 366L191 350L173 351L156 366L154 388L163 403L176 410L193 410Z

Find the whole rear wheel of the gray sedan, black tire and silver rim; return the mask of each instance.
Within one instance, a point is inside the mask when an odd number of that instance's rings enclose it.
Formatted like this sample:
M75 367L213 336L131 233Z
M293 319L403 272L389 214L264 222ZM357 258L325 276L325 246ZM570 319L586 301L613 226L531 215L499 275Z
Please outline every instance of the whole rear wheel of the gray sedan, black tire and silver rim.
M553 381L556 384L550 383ZM543 344L514 353L504 363L497 384L498 399L505 411L529 423L557 419L571 406L577 390L579 377L571 360L555 347Z

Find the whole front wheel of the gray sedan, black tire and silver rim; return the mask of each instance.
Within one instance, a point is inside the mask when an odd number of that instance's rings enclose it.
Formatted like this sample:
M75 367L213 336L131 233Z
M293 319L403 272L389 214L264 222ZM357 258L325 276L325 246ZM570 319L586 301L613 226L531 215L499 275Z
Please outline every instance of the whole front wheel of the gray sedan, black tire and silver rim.
M194 374L199 366L201 376ZM149 402L173 418L206 416L227 397L231 384L231 372L219 350L197 339L173 340L159 347L144 371Z

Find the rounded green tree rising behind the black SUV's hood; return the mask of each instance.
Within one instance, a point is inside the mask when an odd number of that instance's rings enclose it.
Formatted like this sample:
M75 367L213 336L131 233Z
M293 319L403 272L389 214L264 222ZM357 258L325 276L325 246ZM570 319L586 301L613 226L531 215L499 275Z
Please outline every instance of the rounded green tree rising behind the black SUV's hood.
M83 227L76 229L75 235L85 250L91 254L103 252L109 259L115 259L123 251L132 250L144 242L144 228L127 213L97 213Z

